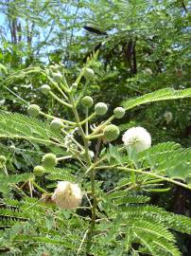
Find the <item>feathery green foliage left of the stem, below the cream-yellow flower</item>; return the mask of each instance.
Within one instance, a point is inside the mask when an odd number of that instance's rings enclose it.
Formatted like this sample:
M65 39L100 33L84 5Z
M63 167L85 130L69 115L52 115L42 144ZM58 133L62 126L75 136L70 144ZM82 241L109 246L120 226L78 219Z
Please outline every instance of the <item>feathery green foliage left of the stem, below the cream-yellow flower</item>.
M38 247L48 245L54 247L55 253L61 250L65 255L75 255L81 234L87 229L85 221L76 214L58 211L52 204L35 198L5 199L0 206L1 251L36 255Z

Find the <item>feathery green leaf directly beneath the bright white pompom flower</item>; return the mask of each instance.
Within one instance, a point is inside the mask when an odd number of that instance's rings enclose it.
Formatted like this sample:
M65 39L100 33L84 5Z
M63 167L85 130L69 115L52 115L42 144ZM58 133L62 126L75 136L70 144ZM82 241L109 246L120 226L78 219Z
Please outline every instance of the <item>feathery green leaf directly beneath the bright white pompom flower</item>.
M137 174L137 181L142 185L145 184L145 189L148 191L154 191L152 189L157 187L158 192L162 192L164 189L160 190L159 187L164 176L168 176L170 179L181 179L188 185L190 184L190 148L185 149L178 143L168 141L153 145L139 154L134 153L131 155L131 159L128 155L123 155L121 151L118 147L109 147L106 153L107 161L116 166L129 167L132 161L137 172L139 172L139 169L143 171L142 174ZM123 187L129 183L130 178L126 177L119 180L117 185Z

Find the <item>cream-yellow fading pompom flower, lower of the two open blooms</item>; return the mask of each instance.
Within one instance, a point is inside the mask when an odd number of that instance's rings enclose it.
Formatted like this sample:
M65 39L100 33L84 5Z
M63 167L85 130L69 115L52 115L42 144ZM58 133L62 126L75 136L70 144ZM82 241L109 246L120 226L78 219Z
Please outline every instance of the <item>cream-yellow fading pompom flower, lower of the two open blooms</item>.
M52 195L52 200L61 209L77 208L82 199L82 193L78 184L69 181L59 181L57 189Z

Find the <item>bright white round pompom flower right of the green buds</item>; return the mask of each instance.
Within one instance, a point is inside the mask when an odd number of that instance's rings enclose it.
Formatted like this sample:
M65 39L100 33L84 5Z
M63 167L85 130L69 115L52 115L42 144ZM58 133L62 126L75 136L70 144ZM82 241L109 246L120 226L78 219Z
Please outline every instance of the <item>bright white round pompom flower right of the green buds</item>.
M151 147L151 137L143 127L132 127L122 137L127 147L135 148L136 152L141 152Z

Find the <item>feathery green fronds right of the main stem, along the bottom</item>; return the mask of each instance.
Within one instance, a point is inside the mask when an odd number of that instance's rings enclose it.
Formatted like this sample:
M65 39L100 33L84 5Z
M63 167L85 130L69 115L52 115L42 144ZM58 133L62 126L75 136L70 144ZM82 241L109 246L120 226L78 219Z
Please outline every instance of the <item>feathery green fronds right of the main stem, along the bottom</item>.
M134 251L136 255L182 255L170 229L190 234L191 220L146 205L149 198L143 195L134 195L134 202L132 198L133 194L125 191L104 196L102 207L108 217L100 220L95 238L96 245L98 243L104 249L98 254L94 247L95 255L110 255L105 251L112 253L115 247L120 247L121 255L128 251L130 255L134 255Z

